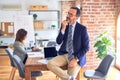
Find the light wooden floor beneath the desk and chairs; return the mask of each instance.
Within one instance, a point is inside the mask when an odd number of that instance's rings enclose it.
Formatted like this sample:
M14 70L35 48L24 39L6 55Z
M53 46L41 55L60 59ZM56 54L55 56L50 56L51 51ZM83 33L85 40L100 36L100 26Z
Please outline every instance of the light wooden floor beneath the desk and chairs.
M12 67L10 66L10 61L8 56L0 56L0 80L9 80L9 75ZM87 70L86 68L82 69L82 74L80 75L80 80L87 80L83 77L83 72ZM50 71L43 71L43 76L38 77L37 80L57 80L56 75ZM120 80L120 71L114 67L110 68L107 80ZM16 71L14 80L21 80L18 72Z

